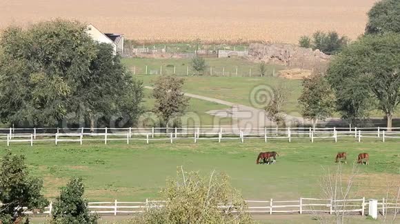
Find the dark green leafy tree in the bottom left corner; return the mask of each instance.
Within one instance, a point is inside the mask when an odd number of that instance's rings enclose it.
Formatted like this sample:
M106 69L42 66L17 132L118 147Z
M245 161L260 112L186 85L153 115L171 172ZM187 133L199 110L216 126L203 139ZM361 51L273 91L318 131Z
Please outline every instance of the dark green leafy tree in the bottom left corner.
M43 210L48 205L41 194L43 181L30 177L23 155L6 153L1 160L0 180L0 223L13 223L26 210Z

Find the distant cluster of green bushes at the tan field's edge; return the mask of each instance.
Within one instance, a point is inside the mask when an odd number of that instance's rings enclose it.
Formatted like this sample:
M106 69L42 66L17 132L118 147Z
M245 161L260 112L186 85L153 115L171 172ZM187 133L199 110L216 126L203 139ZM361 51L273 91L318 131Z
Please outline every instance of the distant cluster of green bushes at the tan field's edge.
M311 47L312 49L319 49L325 54L337 54L346 47L349 43L347 36L339 36L335 31L328 33L317 31L309 36L301 36L299 39L300 47Z

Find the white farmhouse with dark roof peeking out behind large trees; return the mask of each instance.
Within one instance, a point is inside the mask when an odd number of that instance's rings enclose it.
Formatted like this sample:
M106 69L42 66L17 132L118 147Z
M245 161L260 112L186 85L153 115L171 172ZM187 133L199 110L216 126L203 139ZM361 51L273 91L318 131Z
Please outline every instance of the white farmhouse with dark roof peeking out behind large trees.
M94 39L94 41L112 45L114 54L123 54L123 34L104 34L92 24L88 25L86 28L86 33L88 33L89 36Z

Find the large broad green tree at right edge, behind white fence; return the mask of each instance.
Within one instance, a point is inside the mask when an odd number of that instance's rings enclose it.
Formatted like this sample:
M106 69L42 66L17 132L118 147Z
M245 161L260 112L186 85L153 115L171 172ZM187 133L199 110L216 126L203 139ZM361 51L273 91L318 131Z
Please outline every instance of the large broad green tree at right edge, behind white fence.
M369 35L352 43L328 70L328 80L337 94L339 111L356 119L372 107L388 117L400 102L400 34Z

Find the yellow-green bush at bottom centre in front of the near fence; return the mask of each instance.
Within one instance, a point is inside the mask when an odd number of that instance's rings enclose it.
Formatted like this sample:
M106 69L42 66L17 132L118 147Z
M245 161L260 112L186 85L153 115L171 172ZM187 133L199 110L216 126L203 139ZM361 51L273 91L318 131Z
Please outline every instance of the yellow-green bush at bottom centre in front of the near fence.
M181 169L178 179L167 180L161 200L165 207L151 208L134 223L252 223L246 202L223 173L204 178Z

